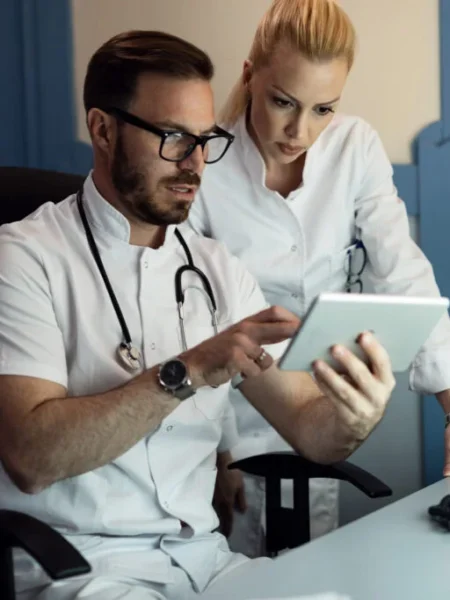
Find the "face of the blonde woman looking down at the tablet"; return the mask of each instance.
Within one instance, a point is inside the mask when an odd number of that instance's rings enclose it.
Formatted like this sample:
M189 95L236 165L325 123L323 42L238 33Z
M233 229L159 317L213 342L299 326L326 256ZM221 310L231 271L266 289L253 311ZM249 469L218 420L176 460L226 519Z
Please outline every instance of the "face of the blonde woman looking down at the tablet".
M258 71L245 64L249 133L267 166L292 163L312 146L334 116L347 75L344 58L312 62L287 44Z

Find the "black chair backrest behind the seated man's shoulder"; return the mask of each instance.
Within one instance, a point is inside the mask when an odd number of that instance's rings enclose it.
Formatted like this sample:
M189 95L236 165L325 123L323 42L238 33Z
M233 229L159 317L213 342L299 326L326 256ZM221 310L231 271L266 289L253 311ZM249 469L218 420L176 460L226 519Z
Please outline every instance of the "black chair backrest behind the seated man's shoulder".
M0 225L20 221L45 202L77 192L84 177L27 167L0 167Z

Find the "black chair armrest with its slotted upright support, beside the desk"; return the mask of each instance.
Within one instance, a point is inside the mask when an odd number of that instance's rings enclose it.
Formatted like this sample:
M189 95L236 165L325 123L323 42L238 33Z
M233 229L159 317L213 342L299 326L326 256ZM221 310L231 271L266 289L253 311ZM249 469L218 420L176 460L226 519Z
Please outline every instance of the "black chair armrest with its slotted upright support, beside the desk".
M309 480L317 477L348 481L369 498L384 498L392 490L382 481L349 463L314 463L295 452L272 452L250 456L232 463L229 469L258 475L266 481L266 554L275 557L281 550L309 542ZM290 479L294 487L293 508L281 505L281 480Z

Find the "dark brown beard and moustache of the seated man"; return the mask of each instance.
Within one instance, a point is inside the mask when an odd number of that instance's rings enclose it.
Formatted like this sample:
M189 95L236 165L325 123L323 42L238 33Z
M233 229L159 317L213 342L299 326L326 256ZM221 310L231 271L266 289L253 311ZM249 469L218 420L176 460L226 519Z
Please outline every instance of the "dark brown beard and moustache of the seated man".
M161 159L163 160L163 159ZM158 206L155 197L147 189L146 177L138 167L130 164L125 152L122 135L119 132L112 163L112 182L119 199L130 216L150 225L165 226L185 221L189 215L190 203L180 200L171 206ZM182 171L178 177L161 179L159 184L166 186L200 185L200 177L190 171Z

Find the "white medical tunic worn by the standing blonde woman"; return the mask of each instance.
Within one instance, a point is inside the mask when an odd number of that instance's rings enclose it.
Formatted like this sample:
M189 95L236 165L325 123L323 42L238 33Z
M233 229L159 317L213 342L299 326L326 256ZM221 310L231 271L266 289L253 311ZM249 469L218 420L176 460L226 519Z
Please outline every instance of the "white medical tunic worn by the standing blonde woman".
M236 139L228 153L205 170L189 224L224 242L257 278L270 304L302 316L318 293L343 291L355 238L367 249L367 276L376 292L439 295L433 269L410 237L392 166L370 125L337 115L308 151L302 185L286 198L266 187L265 165L245 119L231 132ZM424 393L450 388L447 316L417 356L410 384ZM239 394L233 403L242 438L235 456L280 447L273 429ZM320 502L312 514L327 512Z

